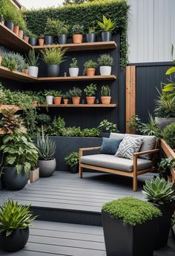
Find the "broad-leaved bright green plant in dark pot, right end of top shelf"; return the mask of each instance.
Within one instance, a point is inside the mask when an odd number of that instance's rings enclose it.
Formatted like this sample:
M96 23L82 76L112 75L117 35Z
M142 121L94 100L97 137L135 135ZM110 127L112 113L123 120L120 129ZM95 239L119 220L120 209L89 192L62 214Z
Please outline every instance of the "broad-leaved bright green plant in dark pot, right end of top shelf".
M111 21L111 19L107 19L105 16L102 17L103 22L98 22L100 28L102 28L102 42L111 41L112 32L115 27L115 22Z

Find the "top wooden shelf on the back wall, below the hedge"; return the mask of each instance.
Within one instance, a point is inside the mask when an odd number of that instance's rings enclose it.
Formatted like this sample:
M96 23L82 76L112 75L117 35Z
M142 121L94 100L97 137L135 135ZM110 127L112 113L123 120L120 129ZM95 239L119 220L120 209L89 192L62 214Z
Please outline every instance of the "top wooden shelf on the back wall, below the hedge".
M33 46L33 49L36 50L36 52L39 52L40 50L43 50L45 48L50 47L63 47L67 48L68 51L80 51L80 50L108 50L108 49L115 49L116 48L116 42L110 41L110 42L92 42L92 43L82 43L82 44L65 44L65 45L44 45L44 46Z

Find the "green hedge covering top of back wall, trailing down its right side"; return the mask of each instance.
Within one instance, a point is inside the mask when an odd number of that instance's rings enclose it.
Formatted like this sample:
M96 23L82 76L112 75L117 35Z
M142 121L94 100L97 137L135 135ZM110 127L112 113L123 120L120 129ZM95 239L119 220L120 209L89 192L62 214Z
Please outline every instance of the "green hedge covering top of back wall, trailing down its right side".
M88 27L96 27L96 32L101 32L97 21L102 21L102 16L113 19L116 23L114 33L120 33L120 64L125 67L128 62L128 10L129 5L126 0L103 0L93 1L87 4L73 4L64 7L49 7L39 10L24 11L27 27L36 35L44 33L47 18L60 19L73 24L83 24L85 33Z

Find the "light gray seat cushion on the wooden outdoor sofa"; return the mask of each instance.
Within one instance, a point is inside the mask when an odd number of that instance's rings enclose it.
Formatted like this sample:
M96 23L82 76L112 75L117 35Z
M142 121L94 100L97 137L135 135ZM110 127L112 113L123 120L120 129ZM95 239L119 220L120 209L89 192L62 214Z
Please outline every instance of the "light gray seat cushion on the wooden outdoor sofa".
M116 169L119 171L133 171L133 160L114 157L110 154L92 154L90 156L81 157L81 163L87 165L95 165L104 168ZM151 168L152 162L150 160L138 159L137 170Z

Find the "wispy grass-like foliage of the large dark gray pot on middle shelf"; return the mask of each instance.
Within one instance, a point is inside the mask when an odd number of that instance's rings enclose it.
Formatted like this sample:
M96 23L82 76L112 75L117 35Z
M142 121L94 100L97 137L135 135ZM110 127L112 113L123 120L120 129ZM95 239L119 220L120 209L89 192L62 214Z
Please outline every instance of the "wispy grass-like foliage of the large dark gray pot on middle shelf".
M62 47L45 48L41 50L42 59L47 65L60 65L64 62L66 49Z

